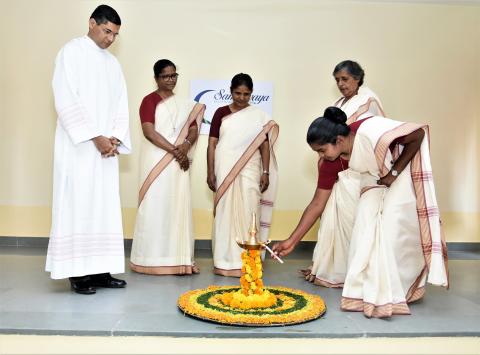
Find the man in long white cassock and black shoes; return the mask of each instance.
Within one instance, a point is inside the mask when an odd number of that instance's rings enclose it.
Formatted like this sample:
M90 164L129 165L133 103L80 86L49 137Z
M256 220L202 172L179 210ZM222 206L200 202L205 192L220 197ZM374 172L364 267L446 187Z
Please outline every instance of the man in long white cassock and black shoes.
M100 5L84 37L58 53L53 93L58 114L53 208L46 271L72 289L121 288L124 272L118 154L131 150L127 89L107 51L120 30L118 13Z

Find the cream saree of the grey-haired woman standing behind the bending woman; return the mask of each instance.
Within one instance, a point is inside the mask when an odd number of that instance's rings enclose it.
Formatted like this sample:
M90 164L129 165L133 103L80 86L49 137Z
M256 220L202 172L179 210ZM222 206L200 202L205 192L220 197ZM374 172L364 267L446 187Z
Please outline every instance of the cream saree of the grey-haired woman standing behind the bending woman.
M372 116L384 116L378 96L368 87L360 87L358 94L346 100L339 98L334 106L341 108L351 124ZM321 164L321 162L319 162ZM340 175L343 179L340 179ZM354 220L354 206L360 191L359 176L353 171L339 173L331 195L323 210L313 252L312 266L306 270L306 279L325 287L343 287L347 270L348 250ZM339 217L342 211L352 211Z

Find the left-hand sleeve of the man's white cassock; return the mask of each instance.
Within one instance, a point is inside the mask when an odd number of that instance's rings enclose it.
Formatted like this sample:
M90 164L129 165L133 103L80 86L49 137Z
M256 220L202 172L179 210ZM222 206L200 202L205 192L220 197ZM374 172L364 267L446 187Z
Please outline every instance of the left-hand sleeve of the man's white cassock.
M81 76L75 66L71 49L64 47L55 60L52 86L58 120L73 144L88 141L100 135L88 119L88 112L78 96L78 80Z

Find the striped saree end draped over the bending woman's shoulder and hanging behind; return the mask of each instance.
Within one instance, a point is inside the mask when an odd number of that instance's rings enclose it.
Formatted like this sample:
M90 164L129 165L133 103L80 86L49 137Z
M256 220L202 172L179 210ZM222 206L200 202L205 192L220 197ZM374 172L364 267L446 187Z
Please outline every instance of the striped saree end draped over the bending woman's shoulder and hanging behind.
M388 129L377 140L375 158L382 176L387 174L389 169L386 163L386 156L392 142L418 129L425 131L425 137L419 151L410 163L410 175L417 201L417 215L423 255L428 268L427 281L434 285L448 287L447 246L445 235L442 231L440 212L433 183L428 125L405 122ZM398 147L395 147L394 152L398 151Z

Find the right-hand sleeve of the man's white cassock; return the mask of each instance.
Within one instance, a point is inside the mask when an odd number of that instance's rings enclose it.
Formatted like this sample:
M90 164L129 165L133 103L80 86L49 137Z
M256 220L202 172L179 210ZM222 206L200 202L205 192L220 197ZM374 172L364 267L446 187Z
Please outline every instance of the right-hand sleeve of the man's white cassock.
M128 124L128 95L127 84L123 77L122 70L120 71L120 95L118 101L117 114L113 123L112 136L117 138L121 144L118 147L118 152L121 154L129 154L132 151L132 144L130 141L130 127Z

